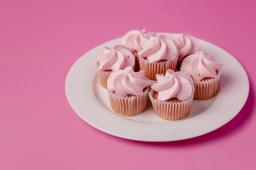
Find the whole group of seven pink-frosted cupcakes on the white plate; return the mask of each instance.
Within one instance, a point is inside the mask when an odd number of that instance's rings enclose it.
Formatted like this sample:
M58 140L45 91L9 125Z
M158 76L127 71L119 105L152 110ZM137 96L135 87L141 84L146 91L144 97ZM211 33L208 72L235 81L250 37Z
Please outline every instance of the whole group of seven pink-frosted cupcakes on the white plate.
M154 113L172 121L189 115L193 99L215 95L223 66L200 51L191 34L172 38L145 29L127 32L120 45L105 47L95 59L113 111L135 116L145 111L149 98Z

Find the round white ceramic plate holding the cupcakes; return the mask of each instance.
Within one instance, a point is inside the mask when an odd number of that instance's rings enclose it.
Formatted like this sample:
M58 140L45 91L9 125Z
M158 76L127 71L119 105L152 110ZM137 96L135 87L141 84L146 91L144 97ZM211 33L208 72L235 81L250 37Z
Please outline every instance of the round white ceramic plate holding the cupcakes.
M173 36L173 34L162 33ZM241 64L227 51L204 40L201 51L214 54L224 64L218 93L211 99L194 100L189 116L179 121L166 121L148 108L137 116L119 116L111 110L107 90L99 84L94 56L104 46L118 45L111 40L84 54L67 74L65 90L71 107L84 121L114 136L138 141L164 142L189 139L225 125L244 106L249 93L249 80Z

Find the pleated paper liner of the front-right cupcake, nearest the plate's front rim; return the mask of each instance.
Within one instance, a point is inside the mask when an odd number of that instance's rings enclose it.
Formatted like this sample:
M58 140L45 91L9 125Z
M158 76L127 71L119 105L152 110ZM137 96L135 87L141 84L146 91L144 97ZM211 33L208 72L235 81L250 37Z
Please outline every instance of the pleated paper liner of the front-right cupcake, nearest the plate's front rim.
M160 101L153 98L153 93L154 91L150 90L148 96L152 102L154 113L156 113L157 116L166 120L180 120L189 115L195 93L194 89L192 90L191 96L182 102Z

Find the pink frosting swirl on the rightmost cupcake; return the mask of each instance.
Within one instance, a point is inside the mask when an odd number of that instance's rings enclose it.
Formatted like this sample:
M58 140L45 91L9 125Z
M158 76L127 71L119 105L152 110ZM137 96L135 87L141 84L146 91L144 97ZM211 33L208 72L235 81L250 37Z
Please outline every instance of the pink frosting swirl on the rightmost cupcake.
M216 70L223 65L213 61L212 55L204 55L204 52L198 51L186 57L180 67L181 71L185 71L193 77L195 81L201 81L204 78L217 77Z

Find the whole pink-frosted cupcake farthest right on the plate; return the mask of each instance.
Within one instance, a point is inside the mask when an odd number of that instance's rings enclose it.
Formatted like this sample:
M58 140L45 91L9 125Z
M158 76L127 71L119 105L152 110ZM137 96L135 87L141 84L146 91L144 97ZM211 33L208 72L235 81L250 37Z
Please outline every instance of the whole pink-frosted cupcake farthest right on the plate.
M218 90L222 66L222 64L213 61L213 54L207 56L202 51L189 55L183 60L180 70L185 71L193 78L195 100L209 99L215 95Z

